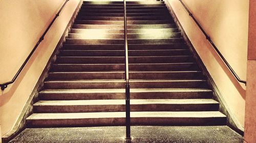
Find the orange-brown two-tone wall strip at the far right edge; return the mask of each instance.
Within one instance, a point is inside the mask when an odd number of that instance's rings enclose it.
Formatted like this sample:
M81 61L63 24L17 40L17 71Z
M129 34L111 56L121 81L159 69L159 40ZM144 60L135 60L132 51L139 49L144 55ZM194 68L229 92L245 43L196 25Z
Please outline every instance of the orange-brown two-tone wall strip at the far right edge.
M250 0L244 140L256 142L256 1Z

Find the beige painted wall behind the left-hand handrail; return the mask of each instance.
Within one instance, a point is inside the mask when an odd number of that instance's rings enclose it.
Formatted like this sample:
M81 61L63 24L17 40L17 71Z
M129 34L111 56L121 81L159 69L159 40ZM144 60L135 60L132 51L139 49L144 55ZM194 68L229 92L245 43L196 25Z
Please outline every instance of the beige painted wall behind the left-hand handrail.
M0 82L10 81L65 3L0 1ZM2 134L10 131L71 19L79 0L70 0L16 81L0 91Z

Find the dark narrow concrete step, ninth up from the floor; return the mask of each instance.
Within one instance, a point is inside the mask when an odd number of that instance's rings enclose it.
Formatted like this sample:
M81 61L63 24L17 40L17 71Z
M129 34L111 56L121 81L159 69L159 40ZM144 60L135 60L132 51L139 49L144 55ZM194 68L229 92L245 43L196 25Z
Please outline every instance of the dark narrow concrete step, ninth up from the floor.
M69 50L123 50L124 44L63 44L62 49ZM163 49L187 49L184 43L177 44L128 44L129 50L163 50Z

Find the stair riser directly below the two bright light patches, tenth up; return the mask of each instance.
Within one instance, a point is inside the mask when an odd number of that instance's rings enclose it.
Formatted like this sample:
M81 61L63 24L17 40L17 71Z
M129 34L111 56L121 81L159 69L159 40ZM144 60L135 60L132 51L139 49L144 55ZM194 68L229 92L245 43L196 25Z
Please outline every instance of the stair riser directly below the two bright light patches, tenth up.
M87 40L87 39L66 39L67 44L123 44L123 39L108 39L108 40ZM130 44L173 44L184 43L181 38L172 39L128 39Z

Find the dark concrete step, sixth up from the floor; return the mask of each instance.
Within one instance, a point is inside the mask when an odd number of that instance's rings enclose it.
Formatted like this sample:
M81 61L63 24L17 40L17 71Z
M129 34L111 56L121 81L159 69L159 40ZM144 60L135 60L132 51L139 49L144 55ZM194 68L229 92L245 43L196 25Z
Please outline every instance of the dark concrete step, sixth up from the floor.
M122 71L125 64L53 64L50 71ZM129 64L130 71L199 70L197 63Z

